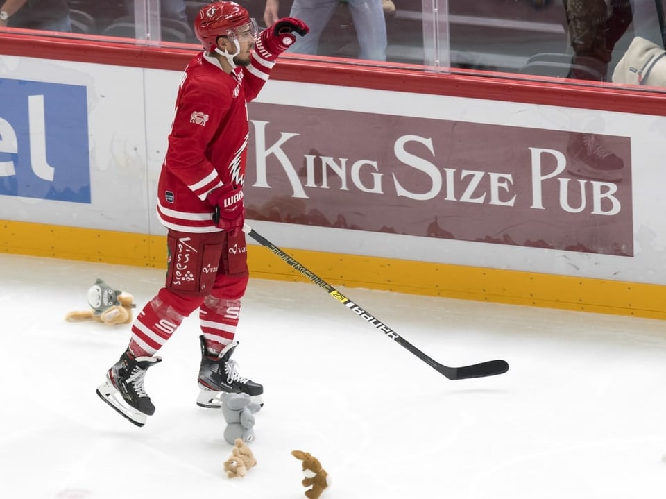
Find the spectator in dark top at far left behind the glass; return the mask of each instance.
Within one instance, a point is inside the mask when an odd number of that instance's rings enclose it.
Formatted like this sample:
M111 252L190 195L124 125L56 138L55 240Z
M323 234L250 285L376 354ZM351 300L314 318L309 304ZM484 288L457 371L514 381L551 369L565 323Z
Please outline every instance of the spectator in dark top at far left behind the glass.
M3 26L71 33L67 1L4 0L0 4L0 28Z

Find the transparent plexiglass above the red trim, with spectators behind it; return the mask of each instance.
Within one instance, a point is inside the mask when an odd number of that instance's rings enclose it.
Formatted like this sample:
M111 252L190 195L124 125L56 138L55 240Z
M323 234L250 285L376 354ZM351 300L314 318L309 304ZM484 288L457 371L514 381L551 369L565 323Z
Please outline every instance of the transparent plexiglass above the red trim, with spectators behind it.
M239 0L260 28L294 16L311 33L291 56L488 78L666 86L663 0ZM5 0L5 3L7 1ZM33 0L0 22L57 36L107 36L198 49L205 1ZM0 0L0 10L4 3ZM10 3L8 3L10 5ZM68 11L69 10L69 14ZM35 33L37 34L37 33Z

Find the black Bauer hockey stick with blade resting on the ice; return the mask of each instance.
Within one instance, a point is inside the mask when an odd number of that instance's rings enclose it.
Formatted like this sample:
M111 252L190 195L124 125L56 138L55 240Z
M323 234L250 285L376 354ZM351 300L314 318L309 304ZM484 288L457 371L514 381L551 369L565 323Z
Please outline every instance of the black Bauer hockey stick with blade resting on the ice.
M351 301L340 291L332 287L332 285L328 284L328 282L323 280L321 277L316 276L314 272L310 271L309 269L307 269L307 267L294 260L292 257L287 255L287 253L284 253L284 251L278 248L278 246L275 246L275 244L268 241L268 239L266 239L262 235L257 234L257 232L253 228L248 226L247 223L243 228L243 232L246 232L247 235L255 239L255 241L261 244L262 246L266 246L266 248L271 250L271 252L274 253L275 256L280 258L280 260L284 261L287 265L289 265L293 269L296 269L298 272L302 273L303 276L307 277L316 285L324 289L324 291L326 291L337 301L345 305L345 307L347 307L349 310L355 312L355 314L357 314L359 317L365 319L368 323L375 326L375 328L383 332L384 335L386 335L387 337L395 340L398 344L400 344L400 346L404 346L404 348L407 348L407 350L416 355L416 357L418 357L420 360L431 366L433 369L436 369L438 373L445 375L450 380L483 378L484 376L493 376L496 374L502 374L506 373L506 371L509 371L509 364L505 360L489 360L488 362L481 362L481 364L472 364L471 366L461 366L461 367L449 367L445 366L444 364L440 364L439 362L436 362L436 360L433 360L432 358L428 357L427 355L425 355L425 353L416 348L416 346L413 346L411 343L409 343L409 341L398 335L398 333L389 328L388 325L384 324L382 321L377 319L377 317L366 312L366 310L363 307Z

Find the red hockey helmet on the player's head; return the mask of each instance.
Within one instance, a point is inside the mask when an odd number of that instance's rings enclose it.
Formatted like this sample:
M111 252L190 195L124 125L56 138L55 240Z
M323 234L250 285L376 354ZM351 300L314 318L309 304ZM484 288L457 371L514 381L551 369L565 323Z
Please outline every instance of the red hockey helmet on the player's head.
M194 19L194 33L209 52L215 50L217 37L235 37L237 28L250 26L252 35L256 35L254 19L250 19L248 11L232 1L209 3L199 10Z

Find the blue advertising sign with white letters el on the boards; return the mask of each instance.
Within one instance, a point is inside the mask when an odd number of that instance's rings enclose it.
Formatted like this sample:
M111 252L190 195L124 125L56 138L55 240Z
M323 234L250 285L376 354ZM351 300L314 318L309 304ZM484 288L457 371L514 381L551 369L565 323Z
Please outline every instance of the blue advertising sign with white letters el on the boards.
M0 78L0 195L90 203L85 86Z

